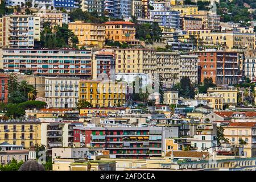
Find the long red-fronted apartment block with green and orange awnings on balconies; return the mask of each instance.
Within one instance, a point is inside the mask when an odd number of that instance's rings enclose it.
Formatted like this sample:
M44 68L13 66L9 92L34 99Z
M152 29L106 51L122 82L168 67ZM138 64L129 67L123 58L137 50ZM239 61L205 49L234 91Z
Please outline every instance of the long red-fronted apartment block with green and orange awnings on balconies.
M76 127L75 141L109 150L114 158L161 156L164 137L177 137L176 127ZM82 138L81 138L82 137Z

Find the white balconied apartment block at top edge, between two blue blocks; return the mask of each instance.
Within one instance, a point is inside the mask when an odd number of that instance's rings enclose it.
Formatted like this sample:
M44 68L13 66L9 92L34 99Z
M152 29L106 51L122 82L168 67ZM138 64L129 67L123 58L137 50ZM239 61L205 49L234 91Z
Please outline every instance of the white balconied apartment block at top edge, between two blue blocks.
M82 11L88 11L90 13L96 12L99 16L104 16L104 5L103 0L82 0L80 1L80 8Z

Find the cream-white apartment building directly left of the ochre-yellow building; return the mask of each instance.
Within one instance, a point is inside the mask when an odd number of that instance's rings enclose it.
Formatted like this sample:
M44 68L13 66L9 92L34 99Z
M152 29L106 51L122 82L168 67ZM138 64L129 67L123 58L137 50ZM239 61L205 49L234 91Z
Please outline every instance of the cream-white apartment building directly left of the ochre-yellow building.
M76 107L79 99L79 80L76 77L46 77L45 90L48 107Z

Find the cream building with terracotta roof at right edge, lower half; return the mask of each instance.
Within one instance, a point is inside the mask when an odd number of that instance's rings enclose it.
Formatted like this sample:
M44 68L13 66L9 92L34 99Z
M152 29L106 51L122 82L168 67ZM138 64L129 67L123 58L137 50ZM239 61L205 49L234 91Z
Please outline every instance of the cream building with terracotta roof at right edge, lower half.
M232 144L240 144L240 140L246 142L243 144L243 153L247 158L256 156L256 126L255 122L232 122L224 126L224 137L229 139Z

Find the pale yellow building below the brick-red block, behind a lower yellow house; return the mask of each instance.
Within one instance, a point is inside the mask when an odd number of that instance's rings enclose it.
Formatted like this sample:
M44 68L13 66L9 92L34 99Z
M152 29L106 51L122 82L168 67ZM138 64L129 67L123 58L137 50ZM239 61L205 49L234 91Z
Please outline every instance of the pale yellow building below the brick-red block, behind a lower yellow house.
M223 96L223 104L237 105L238 90L235 87L209 88L207 93L218 93Z

